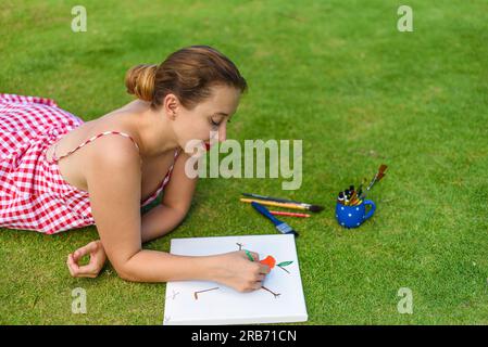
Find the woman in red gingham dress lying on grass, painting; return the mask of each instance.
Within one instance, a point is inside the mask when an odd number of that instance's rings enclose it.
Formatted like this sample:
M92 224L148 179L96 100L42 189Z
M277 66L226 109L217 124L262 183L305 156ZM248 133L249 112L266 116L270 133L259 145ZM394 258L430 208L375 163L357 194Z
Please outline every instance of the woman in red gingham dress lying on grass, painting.
M246 80L215 49L192 46L133 67L125 82L137 100L87 123L49 99L0 94L0 227L53 234L96 224L100 240L68 255L73 277L98 275L108 257L127 281L261 288L270 269L243 250L187 257L141 247L184 219L197 184L184 149L200 140L208 150L211 133L225 140ZM141 216L163 188L162 204Z

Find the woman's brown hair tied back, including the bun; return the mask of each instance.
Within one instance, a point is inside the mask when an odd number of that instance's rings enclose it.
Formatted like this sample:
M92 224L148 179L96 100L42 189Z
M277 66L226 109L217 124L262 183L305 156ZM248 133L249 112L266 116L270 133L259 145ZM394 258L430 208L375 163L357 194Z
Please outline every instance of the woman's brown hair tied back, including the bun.
M175 94L188 110L211 95L211 87L225 85L241 92L248 88L236 65L208 46L191 46L172 53L160 65L141 64L125 76L127 92L159 107Z

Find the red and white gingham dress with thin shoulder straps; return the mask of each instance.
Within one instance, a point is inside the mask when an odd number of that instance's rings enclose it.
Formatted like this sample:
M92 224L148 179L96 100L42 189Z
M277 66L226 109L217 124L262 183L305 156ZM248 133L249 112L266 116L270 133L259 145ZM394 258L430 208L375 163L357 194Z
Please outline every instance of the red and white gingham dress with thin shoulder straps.
M0 227L53 234L95 224L88 192L62 178L58 160L105 134L126 137L139 147L127 133L105 131L48 160L47 150L83 123L53 100L0 93ZM172 170L173 165L141 207L158 197Z

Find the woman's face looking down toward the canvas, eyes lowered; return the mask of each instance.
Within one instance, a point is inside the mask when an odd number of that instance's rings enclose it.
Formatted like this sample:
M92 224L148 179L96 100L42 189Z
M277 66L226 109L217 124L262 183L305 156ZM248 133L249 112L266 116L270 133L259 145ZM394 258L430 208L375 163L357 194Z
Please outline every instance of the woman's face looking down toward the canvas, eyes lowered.
M173 130L182 149L191 140L207 145L226 140L226 127L230 116L236 113L240 90L228 86L211 87L212 94L192 110L177 106L173 120ZM195 143L195 141L193 141Z

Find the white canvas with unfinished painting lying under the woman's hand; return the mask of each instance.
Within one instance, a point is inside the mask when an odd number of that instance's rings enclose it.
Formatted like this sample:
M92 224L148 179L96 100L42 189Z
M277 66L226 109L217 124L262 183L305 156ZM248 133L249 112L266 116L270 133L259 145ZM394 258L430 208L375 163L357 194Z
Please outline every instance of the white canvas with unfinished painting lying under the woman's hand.
M239 293L215 282L167 282L164 325L256 324L308 320L293 235L173 239L171 254L207 256L249 249L276 261L263 286ZM280 265L280 266L278 266Z

